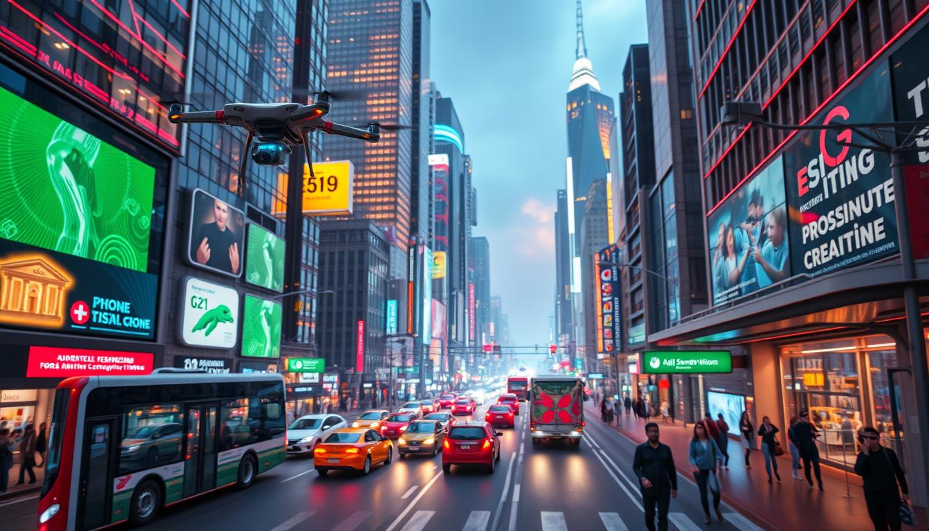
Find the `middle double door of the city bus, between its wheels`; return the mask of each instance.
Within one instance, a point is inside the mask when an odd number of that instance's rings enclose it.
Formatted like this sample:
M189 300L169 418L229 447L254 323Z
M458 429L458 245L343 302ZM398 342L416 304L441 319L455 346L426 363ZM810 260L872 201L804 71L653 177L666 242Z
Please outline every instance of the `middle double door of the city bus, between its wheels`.
M215 404L188 405L184 498L216 487Z

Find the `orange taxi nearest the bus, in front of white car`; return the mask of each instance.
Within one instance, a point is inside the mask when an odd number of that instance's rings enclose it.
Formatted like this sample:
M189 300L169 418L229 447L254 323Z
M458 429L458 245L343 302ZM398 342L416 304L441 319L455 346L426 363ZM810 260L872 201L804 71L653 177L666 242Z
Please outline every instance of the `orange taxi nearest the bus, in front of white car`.
M370 428L343 428L330 433L313 450L313 468L323 477L342 469L367 475L377 463L390 464L394 444Z

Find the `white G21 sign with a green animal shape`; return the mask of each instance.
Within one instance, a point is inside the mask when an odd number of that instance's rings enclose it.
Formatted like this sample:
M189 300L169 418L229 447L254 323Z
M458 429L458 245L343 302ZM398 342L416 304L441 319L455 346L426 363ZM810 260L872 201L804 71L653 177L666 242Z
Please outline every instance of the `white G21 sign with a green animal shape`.
M190 347L231 349L239 330L239 292L188 277L181 290L180 339Z

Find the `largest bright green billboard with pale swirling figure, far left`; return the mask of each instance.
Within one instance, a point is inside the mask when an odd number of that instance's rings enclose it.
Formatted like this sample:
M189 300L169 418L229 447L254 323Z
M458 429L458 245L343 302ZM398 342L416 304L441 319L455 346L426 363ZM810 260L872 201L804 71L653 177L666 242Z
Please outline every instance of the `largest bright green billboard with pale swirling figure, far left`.
M0 109L0 238L147 272L155 169L3 88Z

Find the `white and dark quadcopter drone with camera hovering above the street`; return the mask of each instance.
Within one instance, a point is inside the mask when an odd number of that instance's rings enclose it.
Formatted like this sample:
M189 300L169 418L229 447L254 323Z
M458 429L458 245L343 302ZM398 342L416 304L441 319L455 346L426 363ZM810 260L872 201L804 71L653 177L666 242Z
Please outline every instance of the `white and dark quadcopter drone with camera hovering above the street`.
M168 120L172 124L223 124L242 127L248 131L245 153L251 149L252 160L259 166L281 166L286 161L285 155L291 153L291 147L301 144L307 161L311 161L309 134L313 131L372 143L381 139L381 125L377 122L368 124L367 129L343 126L324 118L329 109L329 93L321 92L309 105L227 103L218 111L185 113L182 105L175 102L168 108ZM243 156L240 175L244 175L247 161L248 158Z

